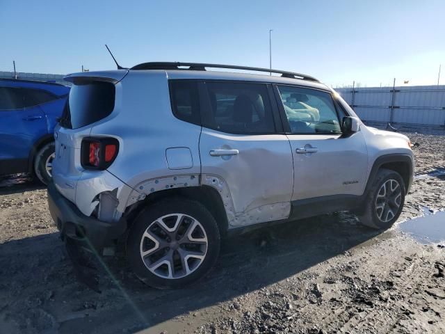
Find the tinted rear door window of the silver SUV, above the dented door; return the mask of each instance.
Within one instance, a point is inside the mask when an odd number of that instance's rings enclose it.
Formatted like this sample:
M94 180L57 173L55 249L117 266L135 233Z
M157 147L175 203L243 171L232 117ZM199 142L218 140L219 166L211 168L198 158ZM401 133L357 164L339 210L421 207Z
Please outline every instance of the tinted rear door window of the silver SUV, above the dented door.
M268 90L264 84L207 82L211 110L203 126L229 134L275 132Z

